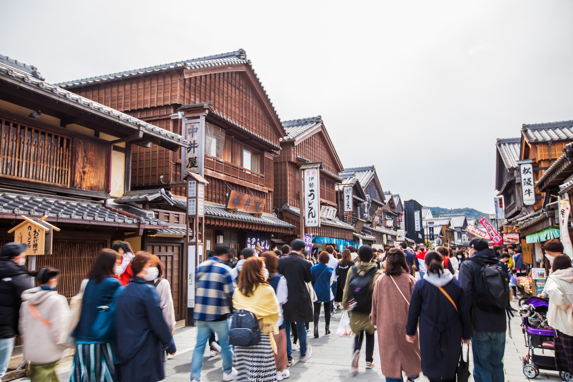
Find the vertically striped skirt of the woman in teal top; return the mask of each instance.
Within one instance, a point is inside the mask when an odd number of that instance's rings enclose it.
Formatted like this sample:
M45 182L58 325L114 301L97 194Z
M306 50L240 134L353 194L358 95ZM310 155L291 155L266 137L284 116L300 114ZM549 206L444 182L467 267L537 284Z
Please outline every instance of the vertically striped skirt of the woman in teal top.
M69 382L115 382L111 344L76 344Z

